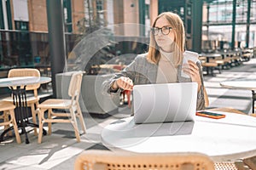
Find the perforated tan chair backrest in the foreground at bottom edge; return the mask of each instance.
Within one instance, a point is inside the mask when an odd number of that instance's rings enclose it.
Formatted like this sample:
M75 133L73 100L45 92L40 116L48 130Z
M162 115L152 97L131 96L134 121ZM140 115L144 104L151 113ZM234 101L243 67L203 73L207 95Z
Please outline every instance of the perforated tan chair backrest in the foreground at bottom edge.
M177 169L213 170L213 161L200 153L145 153L85 150L75 161L75 170Z

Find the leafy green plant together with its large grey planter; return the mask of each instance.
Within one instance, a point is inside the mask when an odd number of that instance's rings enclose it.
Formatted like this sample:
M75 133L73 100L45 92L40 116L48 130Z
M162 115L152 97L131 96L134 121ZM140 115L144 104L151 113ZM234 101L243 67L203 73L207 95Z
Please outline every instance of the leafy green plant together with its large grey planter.
M80 106L83 112L106 115L118 111L119 94L103 95L102 82L113 76L112 68L102 68L114 59L113 33L104 27L104 20L82 19L78 23L77 45L67 59L66 73L56 75L57 97L67 98L68 81L72 71L85 71Z

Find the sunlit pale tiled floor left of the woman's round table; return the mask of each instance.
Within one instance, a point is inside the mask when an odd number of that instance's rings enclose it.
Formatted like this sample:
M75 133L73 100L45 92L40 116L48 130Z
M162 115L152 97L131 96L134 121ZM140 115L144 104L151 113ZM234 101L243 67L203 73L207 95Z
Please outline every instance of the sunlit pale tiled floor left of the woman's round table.
M53 124L52 135L44 136L42 144L38 144L33 131L29 133L30 144L25 144L24 135L20 136L21 144L9 139L6 144L0 144L0 169L73 169L74 159L81 151L106 149L101 144L102 128L125 116L130 116L127 107L119 108L118 114L106 119L84 114L87 133L81 136L80 143L75 139L73 127L67 123Z

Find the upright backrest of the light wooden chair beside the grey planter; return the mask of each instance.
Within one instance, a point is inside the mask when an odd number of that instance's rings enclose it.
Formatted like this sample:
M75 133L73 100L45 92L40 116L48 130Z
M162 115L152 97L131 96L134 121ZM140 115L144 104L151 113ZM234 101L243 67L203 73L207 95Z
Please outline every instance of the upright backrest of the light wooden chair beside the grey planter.
M83 73L84 71L76 71L73 73L71 77L69 88L68 88L68 95L73 99L77 99L77 100L79 99Z

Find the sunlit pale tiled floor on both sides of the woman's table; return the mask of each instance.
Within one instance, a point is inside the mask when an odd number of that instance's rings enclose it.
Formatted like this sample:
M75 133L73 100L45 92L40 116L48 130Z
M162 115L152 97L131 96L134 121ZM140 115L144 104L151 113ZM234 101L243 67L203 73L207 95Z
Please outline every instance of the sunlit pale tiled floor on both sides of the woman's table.
M251 111L251 92L247 90L230 90L221 88L219 82L234 78L252 78L256 80L256 59L217 74L216 77L204 77L205 86L210 99L209 107L233 107L249 113ZM43 143L37 143L37 136L29 133L30 144L16 144L9 139L6 144L0 144L0 169L10 170L63 170L73 169L76 156L83 150L107 148L101 144L102 128L110 122L130 116L128 107L120 107L119 113L105 119L84 114L87 133L81 136L77 143L73 127L70 124L55 123L53 133L43 137ZM2 130L0 130L2 132Z

